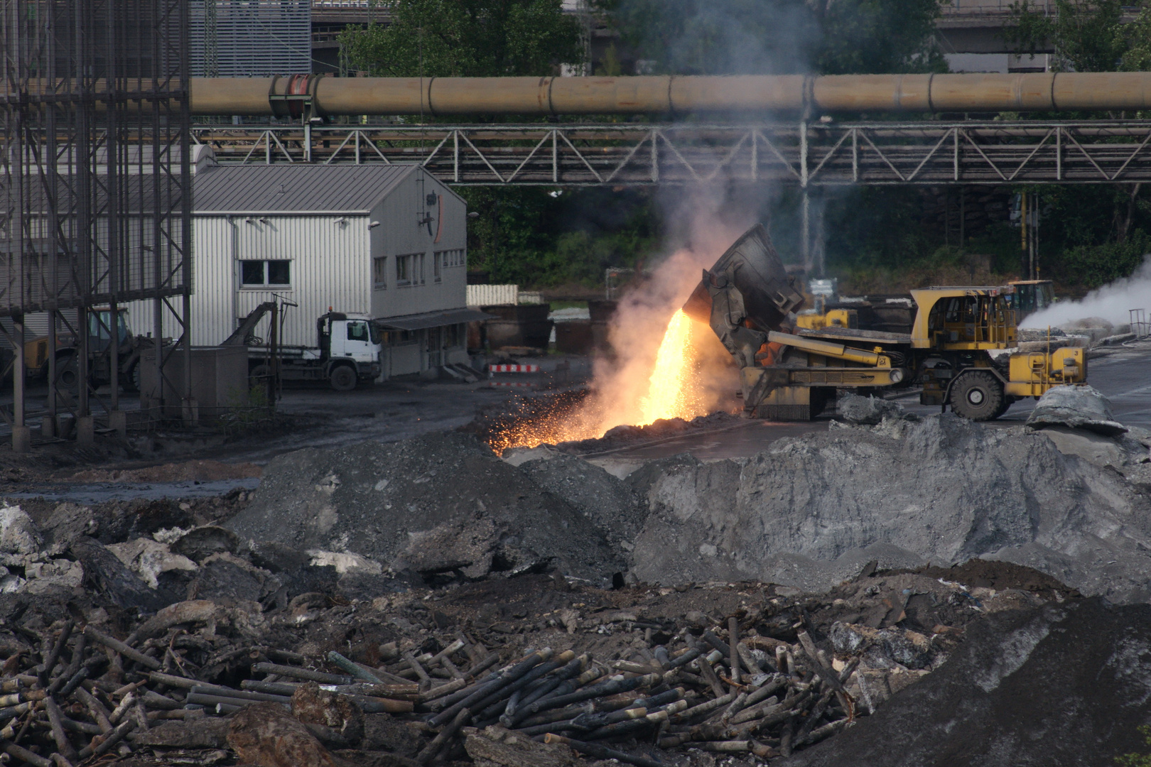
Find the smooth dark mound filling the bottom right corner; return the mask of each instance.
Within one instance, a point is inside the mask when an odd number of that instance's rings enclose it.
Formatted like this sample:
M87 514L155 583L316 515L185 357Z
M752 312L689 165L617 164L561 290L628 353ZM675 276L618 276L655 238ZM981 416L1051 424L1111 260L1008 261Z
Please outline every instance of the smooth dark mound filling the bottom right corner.
M938 670L786 767L1115 765L1146 752L1151 607L990 615Z

